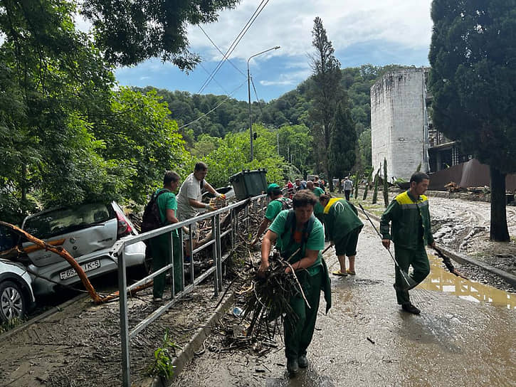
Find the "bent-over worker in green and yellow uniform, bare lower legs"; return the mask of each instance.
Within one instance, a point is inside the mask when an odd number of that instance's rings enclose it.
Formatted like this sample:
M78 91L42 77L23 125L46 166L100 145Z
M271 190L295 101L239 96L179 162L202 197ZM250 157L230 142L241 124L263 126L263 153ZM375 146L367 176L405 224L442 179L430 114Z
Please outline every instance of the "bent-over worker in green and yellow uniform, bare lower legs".
M357 255L358 236L364 223L358 217L357 208L343 198L330 198L321 195L320 203L324 206L325 229L330 237L330 245L335 245L335 254L339 259L340 269L335 275L354 275L354 259ZM349 269L346 269L346 255Z

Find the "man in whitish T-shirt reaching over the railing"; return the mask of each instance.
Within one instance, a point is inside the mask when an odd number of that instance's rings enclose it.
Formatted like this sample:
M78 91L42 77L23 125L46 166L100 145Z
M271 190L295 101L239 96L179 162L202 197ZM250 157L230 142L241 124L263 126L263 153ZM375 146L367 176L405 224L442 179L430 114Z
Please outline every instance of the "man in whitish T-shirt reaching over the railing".
M204 162L199 161L195 164L194 173L189 174L184 183L181 184L179 194L177 194L177 218L179 221L186 221L187 219L194 218L197 213L202 213L206 210L213 211L216 208L208 203L202 203L202 189L211 192L217 198L221 196L214 187L212 187L204 178L208 174L208 166ZM189 239L196 233L197 227L194 223L191 227L192 235L184 233L184 239ZM194 241L194 248L198 245ZM185 260L190 259L190 244L186 243L186 255Z

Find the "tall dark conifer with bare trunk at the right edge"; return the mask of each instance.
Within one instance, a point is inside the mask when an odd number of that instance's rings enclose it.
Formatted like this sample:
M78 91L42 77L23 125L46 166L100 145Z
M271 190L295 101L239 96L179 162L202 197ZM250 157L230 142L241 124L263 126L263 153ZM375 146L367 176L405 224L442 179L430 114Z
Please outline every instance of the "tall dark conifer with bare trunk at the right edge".
M490 165L491 239L509 240L505 174L516 171L516 0L434 0L433 122Z

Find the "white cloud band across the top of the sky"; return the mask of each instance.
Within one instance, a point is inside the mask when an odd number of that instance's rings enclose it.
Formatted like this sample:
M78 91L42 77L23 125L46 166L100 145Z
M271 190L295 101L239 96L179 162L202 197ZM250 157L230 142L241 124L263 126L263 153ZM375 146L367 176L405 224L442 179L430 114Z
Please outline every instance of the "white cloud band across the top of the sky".
M258 4L259 0L243 0L236 9L221 12L216 23L203 28L226 52ZM272 51L270 55L310 53L315 16L322 18L336 51L373 40L411 48L428 47L432 27L430 5L431 0L271 0L231 58L246 60L273 46L281 46L281 50ZM203 53L207 60L221 58L198 27L189 28L189 41L192 51Z

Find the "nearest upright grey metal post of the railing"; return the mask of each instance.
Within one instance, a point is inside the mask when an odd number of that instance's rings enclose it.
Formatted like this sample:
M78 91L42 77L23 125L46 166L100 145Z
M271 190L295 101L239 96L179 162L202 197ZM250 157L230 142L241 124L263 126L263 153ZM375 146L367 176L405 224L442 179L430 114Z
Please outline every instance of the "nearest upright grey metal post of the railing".
M122 385L131 386L129 319L127 318L127 278L125 277L125 245L118 254L118 294L120 295L120 341L122 342Z

